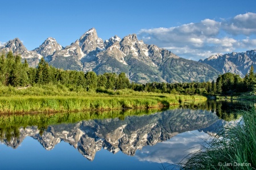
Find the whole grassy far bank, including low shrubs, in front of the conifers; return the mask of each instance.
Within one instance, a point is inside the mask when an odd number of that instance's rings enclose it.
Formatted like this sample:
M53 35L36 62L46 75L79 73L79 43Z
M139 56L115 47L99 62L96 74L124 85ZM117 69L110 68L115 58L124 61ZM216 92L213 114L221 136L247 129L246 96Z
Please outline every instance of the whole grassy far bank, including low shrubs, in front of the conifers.
M0 113L79 112L138 108L163 108L196 100L204 96L158 94L133 90L102 92L71 92L53 84L17 89L1 87Z

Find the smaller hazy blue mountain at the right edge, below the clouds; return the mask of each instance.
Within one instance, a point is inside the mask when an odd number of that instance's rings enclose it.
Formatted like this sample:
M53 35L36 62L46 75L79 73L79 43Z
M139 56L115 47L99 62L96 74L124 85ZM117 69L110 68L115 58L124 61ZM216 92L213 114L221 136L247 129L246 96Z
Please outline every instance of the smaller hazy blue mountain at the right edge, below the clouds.
M245 53L216 54L199 62L207 63L222 74L235 73L243 77L249 73L251 65L256 68L256 50L248 50Z

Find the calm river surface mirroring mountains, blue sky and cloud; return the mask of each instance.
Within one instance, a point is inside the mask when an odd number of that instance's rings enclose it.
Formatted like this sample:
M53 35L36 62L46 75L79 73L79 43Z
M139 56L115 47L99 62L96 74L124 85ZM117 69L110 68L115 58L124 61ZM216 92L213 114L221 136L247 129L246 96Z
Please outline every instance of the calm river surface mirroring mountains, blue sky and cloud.
M20 127L16 137L1 133L0 169L172 169L244 107L207 101L149 115L49 125L43 131Z

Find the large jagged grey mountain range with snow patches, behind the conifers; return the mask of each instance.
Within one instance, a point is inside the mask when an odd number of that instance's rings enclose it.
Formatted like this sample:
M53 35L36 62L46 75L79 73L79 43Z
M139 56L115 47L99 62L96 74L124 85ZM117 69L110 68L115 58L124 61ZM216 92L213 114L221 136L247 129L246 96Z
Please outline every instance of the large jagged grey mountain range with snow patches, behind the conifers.
M0 51L13 50L32 67L44 57L50 65L65 70L125 72L130 80L147 82L192 82L217 78L218 71L205 63L180 58L156 45L144 44L132 34L123 39L118 36L103 41L95 28L89 29L80 39L63 48L49 37L39 48L28 51L19 39L0 47Z

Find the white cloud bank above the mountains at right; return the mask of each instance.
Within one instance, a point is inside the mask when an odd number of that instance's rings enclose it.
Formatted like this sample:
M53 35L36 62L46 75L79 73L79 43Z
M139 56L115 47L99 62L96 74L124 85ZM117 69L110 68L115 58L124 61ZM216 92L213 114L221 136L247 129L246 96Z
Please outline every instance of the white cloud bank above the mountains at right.
M248 12L221 22L204 19L178 27L141 29L138 36L147 44L198 61L216 53L255 49L255 39L251 38L256 34L255 20L256 14Z

